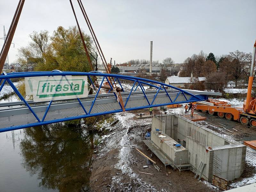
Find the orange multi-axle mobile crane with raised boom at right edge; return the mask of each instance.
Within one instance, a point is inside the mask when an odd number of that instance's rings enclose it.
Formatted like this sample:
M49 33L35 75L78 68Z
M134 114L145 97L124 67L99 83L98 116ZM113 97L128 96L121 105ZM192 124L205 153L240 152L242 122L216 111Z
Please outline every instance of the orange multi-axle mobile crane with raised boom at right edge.
M244 100L243 108L234 108L231 107L231 105L229 105L227 102L209 99L206 101L195 102L194 104L197 106L196 109L202 110L202 112L205 113L208 111L210 115L214 115L217 112L220 118L226 117L228 120L236 120L241 124L250 124L252 127L256 127L256 98L251 97L255 54L256 41L253 46L248 91L246 100Z

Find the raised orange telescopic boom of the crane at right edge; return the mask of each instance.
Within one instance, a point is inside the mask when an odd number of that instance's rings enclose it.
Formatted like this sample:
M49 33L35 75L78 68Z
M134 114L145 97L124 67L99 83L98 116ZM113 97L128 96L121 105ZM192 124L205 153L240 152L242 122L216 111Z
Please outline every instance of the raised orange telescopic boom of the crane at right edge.
M254 62L255 62L255 54L256 54L256 41L253 46L253 52L252 52L252 64L251 64L251 71L250 71L250 77L248 81L248 90L247 90L247 96L246 96L246 104L244 108L244 112L249 112L249 104L251 101L251 94L252 94L252 84L253 84L253 71L254 71Z

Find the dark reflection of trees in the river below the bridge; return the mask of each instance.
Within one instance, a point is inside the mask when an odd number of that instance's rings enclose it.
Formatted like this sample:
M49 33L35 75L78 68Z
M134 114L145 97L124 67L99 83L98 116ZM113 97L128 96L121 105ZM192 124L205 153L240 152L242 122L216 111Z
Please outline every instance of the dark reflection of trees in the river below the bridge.
M81 126L54 124L27 128L20 142L22 165L38 174L39 187L89 191L93 135Z

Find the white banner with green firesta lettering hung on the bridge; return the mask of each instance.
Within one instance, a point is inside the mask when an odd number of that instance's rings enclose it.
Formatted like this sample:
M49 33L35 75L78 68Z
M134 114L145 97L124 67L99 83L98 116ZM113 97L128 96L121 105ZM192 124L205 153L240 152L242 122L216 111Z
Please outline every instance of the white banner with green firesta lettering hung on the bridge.
M87 76L26 77L25 89L26 95L33 95L34 102L88 96Z

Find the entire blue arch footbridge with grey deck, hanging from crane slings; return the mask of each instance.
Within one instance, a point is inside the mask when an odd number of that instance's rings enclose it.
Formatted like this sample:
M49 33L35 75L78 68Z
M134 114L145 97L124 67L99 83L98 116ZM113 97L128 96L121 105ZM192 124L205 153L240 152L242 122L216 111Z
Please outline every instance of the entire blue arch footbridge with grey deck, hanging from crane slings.
M76 94L75 98L70 98L70 96L66 96L68 94L60 93L58 94L58 100L52 99L47 101L44 96L41 97L42 101L38 101L35 100L34 93L34 100L25 100L17 87L12 83L13 78L40 77L44 80L50 79L50 77L71 76L81 77L81 79L86 77L86 84L83 84L86 88L86 96L81 97ZM87 95L87 78L89 79L90 87L94 90L94 94ZM221 95L221 93L215 92L183 90L153 80L103 74L96 71L85 73L54 70L52 72L3 73L0 76L0 80L2 83L0 92L7 82L21 100L18 102L0 103L0 132L122 111L203 101L208 99L208 95ZM34 81L33 78L32 80ZM125 88L123 85L127 85L129 82L131 86ZM104 83L108 86L104 86ZM46 85L45 83L41 86L45 91ZM145 86L151 89L146 89ZM57 85L56 91L60 91L58 88L61 87L64 88L65 85ZM108 89L106 91L103 88ZM34 88L33 92L35 92Z

